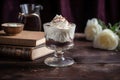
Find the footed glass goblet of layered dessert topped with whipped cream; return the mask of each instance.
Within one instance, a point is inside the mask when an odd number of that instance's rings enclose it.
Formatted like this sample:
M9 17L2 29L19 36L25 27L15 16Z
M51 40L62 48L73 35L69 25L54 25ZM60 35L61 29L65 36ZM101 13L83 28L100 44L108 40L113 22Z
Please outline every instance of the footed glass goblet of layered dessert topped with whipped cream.
M45 64L52 67L70 66L74 60L64 57L64 50L74 46L74 33L76 25L69 23L63 16L56 15L51 22L43 24L46 46L55 50L53 57L45 59Z

